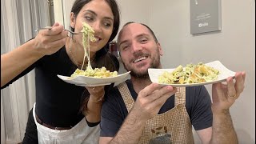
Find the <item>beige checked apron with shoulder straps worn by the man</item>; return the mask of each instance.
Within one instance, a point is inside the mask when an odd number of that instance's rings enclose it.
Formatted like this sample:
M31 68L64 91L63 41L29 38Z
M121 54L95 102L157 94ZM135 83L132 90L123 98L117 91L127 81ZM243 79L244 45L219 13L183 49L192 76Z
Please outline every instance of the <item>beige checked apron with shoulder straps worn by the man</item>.
M134 106L134 99L126 82L118 85L128 113ZM161 134L170 134L172 144L193 144L194 138L190 117L186 112L186 88L177 88L175 106L163 114L157 114L146 122L139 143L148 144L151 138Z

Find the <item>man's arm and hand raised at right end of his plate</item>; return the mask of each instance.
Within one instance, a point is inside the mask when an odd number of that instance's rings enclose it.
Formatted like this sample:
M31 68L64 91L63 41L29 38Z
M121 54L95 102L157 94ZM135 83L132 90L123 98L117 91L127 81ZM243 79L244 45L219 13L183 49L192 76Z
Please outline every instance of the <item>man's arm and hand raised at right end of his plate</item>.
M227 78L227 85L217 83L213 85L213 126L204 130L197 130L203 144L238 143L230 116L230 106L239 97L244 89L246 74L236 73L236 82Z

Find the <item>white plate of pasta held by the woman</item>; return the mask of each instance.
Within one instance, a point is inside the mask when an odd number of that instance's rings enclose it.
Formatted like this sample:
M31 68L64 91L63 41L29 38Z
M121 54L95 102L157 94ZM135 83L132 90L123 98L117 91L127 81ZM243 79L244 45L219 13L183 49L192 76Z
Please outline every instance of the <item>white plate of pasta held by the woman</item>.
M127 76L130 74L130 71L125 74L118 74L116 77L110 78L94 78L78 75L75 78L70 78L63 75L57 75L58 78L61 78L64 82L71 83L77 86L105 86L110 85L114 82L123 82L126 80Z

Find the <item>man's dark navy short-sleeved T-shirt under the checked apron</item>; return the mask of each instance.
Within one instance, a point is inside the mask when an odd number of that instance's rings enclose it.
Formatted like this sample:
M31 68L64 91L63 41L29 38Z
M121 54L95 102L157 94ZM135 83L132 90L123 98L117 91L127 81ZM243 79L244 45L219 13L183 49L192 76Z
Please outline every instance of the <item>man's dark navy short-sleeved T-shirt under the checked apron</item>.
M135 100L138 94L134 91L131 81L127 80L126 84ZM165 113L172 108L174 108L174 96L167 99L158 114ZM202 130L212 126L211 100L205 86L186 87L186 111L195 130ZM117 86L115 86L106 95L102 106L101 136L114 137L127 114L126 105Z

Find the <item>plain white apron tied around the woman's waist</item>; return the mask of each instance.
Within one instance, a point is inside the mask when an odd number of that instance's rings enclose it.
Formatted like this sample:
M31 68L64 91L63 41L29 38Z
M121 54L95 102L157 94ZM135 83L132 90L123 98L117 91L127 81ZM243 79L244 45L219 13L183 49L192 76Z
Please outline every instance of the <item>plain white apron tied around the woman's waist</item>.
M98 144L99 125L94 127L88 126L86 118L82 118L82 120L70 130L52 130L37 122L35 118L35 103L33 117L38 129L39 144Z

